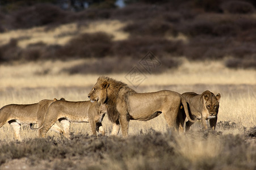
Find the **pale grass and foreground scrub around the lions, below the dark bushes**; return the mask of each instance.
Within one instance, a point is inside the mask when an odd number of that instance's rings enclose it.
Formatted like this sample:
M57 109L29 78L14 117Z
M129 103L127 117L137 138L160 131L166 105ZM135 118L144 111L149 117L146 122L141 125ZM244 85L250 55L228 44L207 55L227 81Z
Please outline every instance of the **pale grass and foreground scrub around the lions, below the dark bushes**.
M110 137L111 123L105 117L106 137L91 137L88 124L73 123L71 140L60 138L54 131L48 132L48 138L38 139L36 131L23 125L24 140L15 142L12 129L6 124L0 128L1 169L254 169L256 73L225 69L220 62L209 63L206 68L205 64L184 62L179 69L165 74L146 74L148 78L136 90L220 92L216 131L201 130L196 123L190 133L170 133L160 115L147 122L131 121L129 137L123 139L120 133L119 137ZM0 104L30 104L53 97L87 100L98 75L58 71L38 74L45 65L57 70L70 63L1 65L1 73L6 74L1 74ZM212 72L213 69L217 71ZM132 87L125 75L109 76Z

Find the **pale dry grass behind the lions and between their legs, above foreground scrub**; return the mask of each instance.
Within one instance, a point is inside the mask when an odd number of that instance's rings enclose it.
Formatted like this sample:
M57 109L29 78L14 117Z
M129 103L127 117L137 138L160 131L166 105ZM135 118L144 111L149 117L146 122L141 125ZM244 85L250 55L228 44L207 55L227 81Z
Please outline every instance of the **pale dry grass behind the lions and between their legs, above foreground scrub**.
M82 62L93 62L93 59L80 59L76 61L47 61L29 62L14 65L0 65L0 106L17 103L36 103L41 99L65 97L66 100L87 100L87 94L96 82L99 75L69 75L61 70ZM207 65L207 67L205 67ZM46 73L45 73L45 70ZM212 70L215 70L214 72ZM125 74L111 74L111 77L128 83ZM221 62L187 62L177 70L169 70L163 74L147 74L147 79L137 87L138 92L158 91L168 89L183 93L195 91L201 93L210 90L221 94L221 105L218 121L231 121L240 127L253 127L256 122L255 90L256 71L230 70ZM129 84L132 87L132 84ZM111 124L104 118L103 126L107 135L111 132ZM25 126L26 127L26 126ZM167 131L163 116L147 122L131 121L129 134L139 135L153 128L157 131ZM86 129L86 130L85 130ZM73 124L74 133L87 134L89 125ZM6 124L0 128L1 140L11 141L13 137L10 126ZM240 133L225 131L225 133ZM54 135L55 133L49 133ZM22 136L35 138L35 131L23 128Z

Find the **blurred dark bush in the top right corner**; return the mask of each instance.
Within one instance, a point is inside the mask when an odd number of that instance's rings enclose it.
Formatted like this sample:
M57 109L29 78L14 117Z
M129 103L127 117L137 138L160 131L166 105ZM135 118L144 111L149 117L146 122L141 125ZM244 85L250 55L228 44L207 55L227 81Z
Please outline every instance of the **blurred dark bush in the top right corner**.
M224 1L221 9L232 14L250 14L255 11L254 6L246 1Z

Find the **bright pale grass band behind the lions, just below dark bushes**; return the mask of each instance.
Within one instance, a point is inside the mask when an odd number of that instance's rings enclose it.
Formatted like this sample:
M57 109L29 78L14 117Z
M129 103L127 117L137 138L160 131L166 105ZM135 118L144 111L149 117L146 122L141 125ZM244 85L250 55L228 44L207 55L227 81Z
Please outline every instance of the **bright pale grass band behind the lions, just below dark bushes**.
M98 74L69 75L62 70L81 63L91 63L94 59L79 59L75 61L47 61L16 63L15 65L0 65L0 91L5 88L35 88L35 87L70 87L93 86ZM139 61L138 61L139 62ZM132 69L132 68L131 68ZM126 74L108 74L117 80L125 79ZM184 61L178 69L162 74L145 74L146 79L141 86L167 86L171 84L250 84L256 83L255 70L227 69L221 61L188 62Z

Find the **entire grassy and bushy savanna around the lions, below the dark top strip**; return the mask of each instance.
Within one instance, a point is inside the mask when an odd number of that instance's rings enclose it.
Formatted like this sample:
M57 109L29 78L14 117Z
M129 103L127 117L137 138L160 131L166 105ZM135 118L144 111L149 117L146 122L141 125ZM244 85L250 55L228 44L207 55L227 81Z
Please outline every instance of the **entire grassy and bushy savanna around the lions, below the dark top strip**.
M106 116L105 137L72 123L70 140L54 131L39 139L23 125L24 140L16 142L6 124L0 169L255 169L254 1L198 2L77 13L49 4L1 8L8 10L0 11L0 107L54 97L88 100L99 75L137 92L210 90L221 100L216 131L196 122L189 133L170 132L160 115L131 121L124 139L110 136ZM148 73L139 62L149 51L160 65ZM146 76L140 84L129 72L135 66L139 78Z

